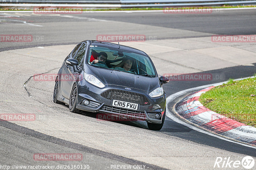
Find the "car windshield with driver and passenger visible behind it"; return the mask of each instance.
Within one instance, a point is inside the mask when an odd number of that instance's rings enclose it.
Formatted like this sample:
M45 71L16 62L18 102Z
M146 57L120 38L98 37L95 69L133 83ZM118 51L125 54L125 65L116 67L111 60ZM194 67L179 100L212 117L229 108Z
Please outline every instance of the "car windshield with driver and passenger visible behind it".
M87 61L91 66L95 67L103 67L138 75L156 75L148 56L127 50L90 46Z

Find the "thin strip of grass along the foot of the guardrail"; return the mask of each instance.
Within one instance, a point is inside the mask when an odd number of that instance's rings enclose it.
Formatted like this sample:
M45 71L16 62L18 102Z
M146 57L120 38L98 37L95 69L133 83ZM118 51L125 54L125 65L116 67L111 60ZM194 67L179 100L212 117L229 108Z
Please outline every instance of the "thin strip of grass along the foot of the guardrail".
M209 8L249 8L256 7L256 5L222 5L222 6L203 6L203 7L180 7L180 8L168 8L168 10L177 10L177 9L209 9ZM84 9L83 11L139 11L139 10L163 10L164 8L109 8L109 9ZM18 9L16 7L0 7L0 11L33 11L33 7L30 9Z

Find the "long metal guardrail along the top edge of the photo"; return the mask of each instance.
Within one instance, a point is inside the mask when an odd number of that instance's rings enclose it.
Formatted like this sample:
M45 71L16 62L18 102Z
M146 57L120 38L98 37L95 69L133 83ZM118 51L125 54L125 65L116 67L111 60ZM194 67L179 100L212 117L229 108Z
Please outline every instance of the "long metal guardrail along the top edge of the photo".
M256 4L256 0L0 0L0 6L179 7Z

